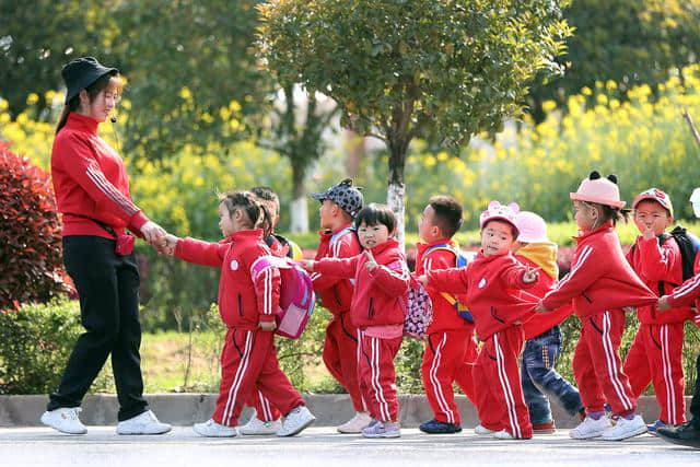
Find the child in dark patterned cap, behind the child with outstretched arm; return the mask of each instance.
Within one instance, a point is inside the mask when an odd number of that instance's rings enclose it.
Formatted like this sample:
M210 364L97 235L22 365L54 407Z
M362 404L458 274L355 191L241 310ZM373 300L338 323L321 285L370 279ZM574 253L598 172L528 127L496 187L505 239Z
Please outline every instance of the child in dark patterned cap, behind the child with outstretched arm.
M312 198L320 202L320 242L316 260L323 258L351 258L362 253L352 221L364 198L351 179L345 179ZM350 319L350 305L354 284L352 279L312 273L314 291L332 318L326 327L323 359L330 374L350 394L354 417L337 428L340 433L362 433L372 418L358 382L358 329Z

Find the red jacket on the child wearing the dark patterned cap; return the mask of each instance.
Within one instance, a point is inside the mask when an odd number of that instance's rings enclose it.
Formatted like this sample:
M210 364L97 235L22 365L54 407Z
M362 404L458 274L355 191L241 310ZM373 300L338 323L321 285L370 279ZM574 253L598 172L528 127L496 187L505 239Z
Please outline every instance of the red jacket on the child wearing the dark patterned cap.
M351 224L343 225L335 232L318 232L320 243L316 250L316 260L323 258L350 258L362 252L354 232L349 231ZM332 241L332 245L330 244ZM350 311L354 285L350 279L337 276L311 275L314 291L320 299L320 304L334 315Z

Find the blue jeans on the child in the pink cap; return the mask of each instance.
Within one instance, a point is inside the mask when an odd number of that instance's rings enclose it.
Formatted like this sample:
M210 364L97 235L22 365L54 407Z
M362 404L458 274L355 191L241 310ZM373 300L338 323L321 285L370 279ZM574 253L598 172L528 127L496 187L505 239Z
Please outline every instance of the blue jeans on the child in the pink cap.
M559 326L525 342L521 361L521 380L523 396L533 424L552 421L547 396L556 397L563 409L572 416L583 409L579 389L555 370L560 351Z

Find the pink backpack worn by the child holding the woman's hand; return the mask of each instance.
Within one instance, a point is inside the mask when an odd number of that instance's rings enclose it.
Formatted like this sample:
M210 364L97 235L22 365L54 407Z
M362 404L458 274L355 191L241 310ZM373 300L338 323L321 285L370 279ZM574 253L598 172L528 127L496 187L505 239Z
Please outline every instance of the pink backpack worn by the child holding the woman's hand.
M250 267L253 281L268 267L279 269L281 276L280 307L275 316L275 334L299 339L314 313L316 295L308 273L288 257L261 256Z

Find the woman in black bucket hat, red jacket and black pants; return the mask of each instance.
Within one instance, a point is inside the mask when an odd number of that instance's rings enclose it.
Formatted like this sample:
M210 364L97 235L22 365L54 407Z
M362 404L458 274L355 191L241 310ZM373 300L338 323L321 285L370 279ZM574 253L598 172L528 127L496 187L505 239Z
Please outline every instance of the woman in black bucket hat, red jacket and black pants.
M63 218L63 262L80 295L85 332L80 336L58 390L42 422L65 433L86 432L78 412L83 396L112 354L119 412L117 433L160 434L143 399L139 346L139 269L133 237L160 244L165 231L131 201L124 161L97 136L119 100L116 68L93 57L72 60L62 70L67 94L51 151L51 176Z

